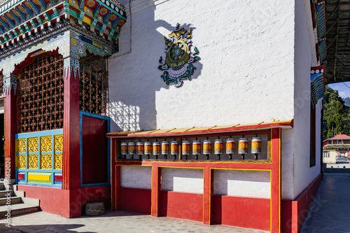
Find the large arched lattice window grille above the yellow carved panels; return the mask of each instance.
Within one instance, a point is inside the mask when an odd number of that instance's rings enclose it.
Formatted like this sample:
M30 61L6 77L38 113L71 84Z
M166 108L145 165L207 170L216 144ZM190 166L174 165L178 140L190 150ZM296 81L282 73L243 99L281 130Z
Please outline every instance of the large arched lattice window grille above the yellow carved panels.
M63 127L63 57L45 52L18 76L18 133Z

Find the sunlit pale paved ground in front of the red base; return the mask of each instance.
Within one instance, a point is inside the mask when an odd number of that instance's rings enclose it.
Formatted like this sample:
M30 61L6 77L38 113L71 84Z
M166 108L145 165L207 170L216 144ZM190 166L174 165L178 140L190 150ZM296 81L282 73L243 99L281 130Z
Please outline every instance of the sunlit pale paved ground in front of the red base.
M53 233L53 232L241 232L258 233L225 225L203 225L199 222L176 218L153 218L124 211L107 212L99 217L62 218L52 213L36 212L11 218L12 226L0 220L0 232ZM265 233L265 232L264 232Z

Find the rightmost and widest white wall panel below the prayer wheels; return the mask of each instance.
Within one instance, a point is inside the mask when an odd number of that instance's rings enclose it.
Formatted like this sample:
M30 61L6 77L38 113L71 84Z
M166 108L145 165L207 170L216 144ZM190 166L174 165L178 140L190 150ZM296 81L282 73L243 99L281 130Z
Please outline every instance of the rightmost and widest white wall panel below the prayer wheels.
M271 198L270 172L214 170L214 195Z

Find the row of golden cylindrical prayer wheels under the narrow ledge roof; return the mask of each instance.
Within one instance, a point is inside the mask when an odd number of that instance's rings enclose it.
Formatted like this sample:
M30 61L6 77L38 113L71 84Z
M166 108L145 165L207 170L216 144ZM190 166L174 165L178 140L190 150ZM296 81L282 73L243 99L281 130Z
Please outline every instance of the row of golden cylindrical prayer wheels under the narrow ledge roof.
M232 155L235 154L235 139L226 139L226 154L232 159ZM182 141L181 155L186 156L191 154L190 141ZM214 141L214 154L218 155L220 160L220 155L223 155L223 139L216 139ZM122 142L120 144L121 154L123 157L126 155L155 155L158 159L158 155L173 155L174 159L176 155L179 155L179 142L178 141L162 141L162 143L155 141L151 143L150 141L141 142L138 141L134 143L133 141L129 143ZM207 160L209 155L212 153L212 143L211 140L207 139L203 141L203 150L201 141L195 140L192 142L192 155L195 155L196 160L198 160L198 155L207 155ZM253 137L251 140L251 153L255 154L255 160L258 159L258 154L261 153L261 139L259 137ZM244 155L248 154L248 139L242 137L238 141L238 154L242 155L244 160Z

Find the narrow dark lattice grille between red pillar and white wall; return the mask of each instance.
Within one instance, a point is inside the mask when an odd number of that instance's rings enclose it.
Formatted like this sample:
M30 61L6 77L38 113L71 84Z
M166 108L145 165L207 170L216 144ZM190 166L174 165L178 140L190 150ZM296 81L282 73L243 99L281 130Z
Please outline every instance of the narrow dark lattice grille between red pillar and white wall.
M80 111L108 115L109 80L106 58L85 57L80 59L79 103Z

